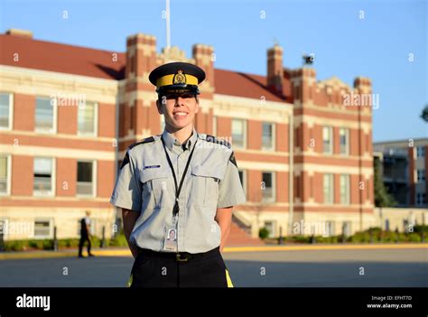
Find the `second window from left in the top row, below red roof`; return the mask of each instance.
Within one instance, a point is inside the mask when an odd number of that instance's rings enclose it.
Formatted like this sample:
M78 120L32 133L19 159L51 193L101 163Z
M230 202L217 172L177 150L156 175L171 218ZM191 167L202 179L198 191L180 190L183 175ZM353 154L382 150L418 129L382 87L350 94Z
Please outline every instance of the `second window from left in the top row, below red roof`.
M55 132L56 99L36 97L35 129L38 132Z

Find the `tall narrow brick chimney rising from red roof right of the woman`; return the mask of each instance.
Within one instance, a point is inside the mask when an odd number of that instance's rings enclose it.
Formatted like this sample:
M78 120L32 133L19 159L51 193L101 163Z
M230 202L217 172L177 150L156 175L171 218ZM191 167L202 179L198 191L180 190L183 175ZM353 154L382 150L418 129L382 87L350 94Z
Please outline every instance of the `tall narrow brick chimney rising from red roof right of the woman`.
M275 44L267 50L267 88L283 95L283 48Z

